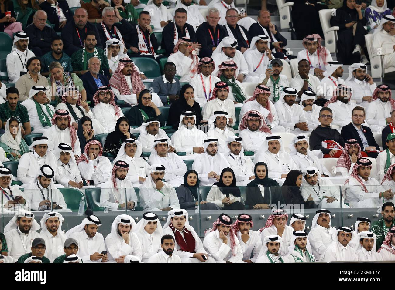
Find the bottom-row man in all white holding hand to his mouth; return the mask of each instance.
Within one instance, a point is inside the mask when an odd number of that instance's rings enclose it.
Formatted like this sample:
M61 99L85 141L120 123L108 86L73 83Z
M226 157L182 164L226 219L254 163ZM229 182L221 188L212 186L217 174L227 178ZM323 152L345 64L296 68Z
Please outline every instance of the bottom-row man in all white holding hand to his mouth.
M141 260L143 251L137 235L132 232L136 223L130 215L118 215L111 225L111 233L104 239L109 260L124 263L125 256L133 255Z

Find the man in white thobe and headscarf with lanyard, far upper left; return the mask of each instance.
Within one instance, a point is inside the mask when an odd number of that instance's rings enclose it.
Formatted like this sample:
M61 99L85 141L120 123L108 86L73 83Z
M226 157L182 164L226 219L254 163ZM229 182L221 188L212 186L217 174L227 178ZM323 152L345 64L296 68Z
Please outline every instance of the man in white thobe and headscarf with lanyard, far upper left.
M26 62L34 56L28 49L29 37L23 31L19 31L14 36L11 52L7 55L7 72L10 82L17 82L19 77L27 73Z

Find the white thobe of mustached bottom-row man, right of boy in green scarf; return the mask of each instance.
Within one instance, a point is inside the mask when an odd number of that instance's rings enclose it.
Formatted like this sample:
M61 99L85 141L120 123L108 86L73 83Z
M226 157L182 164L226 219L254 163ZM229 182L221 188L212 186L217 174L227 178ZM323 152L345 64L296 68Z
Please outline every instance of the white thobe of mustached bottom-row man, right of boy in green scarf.
M330 226L329 228L324 228L323 226L316 225L308 233L308 240L310 241L313 256L319 261L327 247L333 241L337 241L337 230Z

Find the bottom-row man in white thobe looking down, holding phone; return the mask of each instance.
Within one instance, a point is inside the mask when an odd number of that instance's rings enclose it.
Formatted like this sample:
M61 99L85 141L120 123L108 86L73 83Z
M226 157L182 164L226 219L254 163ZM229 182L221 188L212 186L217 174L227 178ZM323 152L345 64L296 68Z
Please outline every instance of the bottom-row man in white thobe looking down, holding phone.
M102 254L106 249L103 235L98 232L98 227L101 225L102 223L96 215L88 215L80 225L66 232L68 238L78 242L77 254L84 263L105 263L108 261L108 254Z

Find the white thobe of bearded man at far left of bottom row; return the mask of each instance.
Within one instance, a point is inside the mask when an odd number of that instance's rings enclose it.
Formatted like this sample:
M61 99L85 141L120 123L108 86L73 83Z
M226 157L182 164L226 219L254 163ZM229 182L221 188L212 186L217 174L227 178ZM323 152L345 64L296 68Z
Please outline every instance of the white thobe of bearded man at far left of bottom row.
M39 237L38 232L30 230L27 234L14 228L4 234L7 241L8 256L13 259L13 263L17 262L20 256L30 253L32 250L32 242Z

